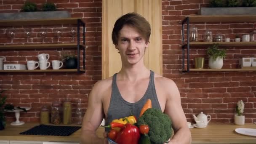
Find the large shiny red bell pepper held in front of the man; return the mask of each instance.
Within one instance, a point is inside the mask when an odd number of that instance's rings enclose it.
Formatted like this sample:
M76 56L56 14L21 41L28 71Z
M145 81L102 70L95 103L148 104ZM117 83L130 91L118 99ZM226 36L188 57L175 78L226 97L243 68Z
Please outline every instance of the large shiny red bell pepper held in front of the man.
M121 128L121 131L117 133L115 142L117 144L138 144L139 137L139 128L127 123Z

